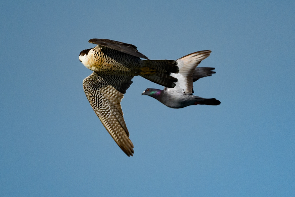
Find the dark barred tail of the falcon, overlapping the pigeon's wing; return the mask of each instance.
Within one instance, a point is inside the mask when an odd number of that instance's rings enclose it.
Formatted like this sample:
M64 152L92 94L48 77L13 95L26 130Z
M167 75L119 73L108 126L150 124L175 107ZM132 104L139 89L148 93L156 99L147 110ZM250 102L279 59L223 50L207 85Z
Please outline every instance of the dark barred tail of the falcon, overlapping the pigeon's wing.
M165 87L175 87L177 79L170 76L171 73L178 73L177 62L174 60L144 60L140 68L140 76L156 84Z

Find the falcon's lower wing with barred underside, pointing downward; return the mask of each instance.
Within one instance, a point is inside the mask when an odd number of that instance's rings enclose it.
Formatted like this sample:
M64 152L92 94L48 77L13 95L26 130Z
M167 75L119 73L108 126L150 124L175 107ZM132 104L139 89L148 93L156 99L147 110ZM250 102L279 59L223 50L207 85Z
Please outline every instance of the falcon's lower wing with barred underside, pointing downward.
M132 76L98 75L93 72L83 80L83 89L91 107L128 156L133 156L134 146L129 139L120 102L132 84L132 78Z

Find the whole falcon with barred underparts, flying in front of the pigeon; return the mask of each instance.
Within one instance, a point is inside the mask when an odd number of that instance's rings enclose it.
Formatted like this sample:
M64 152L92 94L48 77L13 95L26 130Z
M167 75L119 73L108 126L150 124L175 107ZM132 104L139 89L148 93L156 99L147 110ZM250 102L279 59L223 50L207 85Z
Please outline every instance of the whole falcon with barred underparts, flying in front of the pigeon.
M132 44L108 39L91 39L96 47L81 51L79 60L93 73L83 80L86 97L101 123L127 156L133 156L133 144L123 118L121 100L140 75L168 88L175 87L178 73L174 60L149 60ZM144 60L140 59L143 58Z

